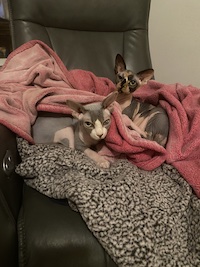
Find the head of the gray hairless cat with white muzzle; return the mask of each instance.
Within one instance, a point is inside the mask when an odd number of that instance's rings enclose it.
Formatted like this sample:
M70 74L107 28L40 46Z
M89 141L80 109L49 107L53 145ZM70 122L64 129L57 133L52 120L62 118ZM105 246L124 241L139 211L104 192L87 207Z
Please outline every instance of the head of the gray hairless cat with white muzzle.
M113 103L117 95L117 92L113 92L102 102L86 105L67 100L67 105L73 110L72 115L79 120L81 130L98 141L104 139L107 135L111 123Z

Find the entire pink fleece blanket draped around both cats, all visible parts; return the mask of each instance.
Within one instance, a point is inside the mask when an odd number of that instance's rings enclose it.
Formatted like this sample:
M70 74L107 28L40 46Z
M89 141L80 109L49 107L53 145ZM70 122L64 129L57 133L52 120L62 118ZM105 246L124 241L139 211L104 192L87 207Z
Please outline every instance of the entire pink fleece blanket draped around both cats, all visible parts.
M47 45L30 41L13 51L0 70L0 123L33 142L31 125L38 111L68 114L67 99L101 101L114 89L107 78L84 70L68 71ZM130 131L116 103L102 152L112 157L126 155L144 170L167 162L178 169L200 197L200 90L150 81L134 96L166 109L170 119L166 149Z

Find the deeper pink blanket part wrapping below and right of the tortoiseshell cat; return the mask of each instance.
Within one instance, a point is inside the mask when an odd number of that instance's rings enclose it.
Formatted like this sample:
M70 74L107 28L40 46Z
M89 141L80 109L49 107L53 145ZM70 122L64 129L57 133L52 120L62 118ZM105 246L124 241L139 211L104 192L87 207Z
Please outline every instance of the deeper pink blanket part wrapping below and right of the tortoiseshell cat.
M200 197L200 89L149 81L134 97L160 104L167 111L170 132L166 149L141 138L128 139L117 116L107 135L107 146L125 153L133 164L144 170L153 170L163 162L171 164Z

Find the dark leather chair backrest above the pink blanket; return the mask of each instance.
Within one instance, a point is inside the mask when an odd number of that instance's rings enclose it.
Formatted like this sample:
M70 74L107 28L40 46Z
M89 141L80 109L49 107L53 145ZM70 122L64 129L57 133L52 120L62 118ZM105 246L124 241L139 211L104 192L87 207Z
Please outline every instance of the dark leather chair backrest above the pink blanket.
M37 39L68 69L114 80L114 60L124 56L135 72L151 68L150 0L8 0L13 49Z

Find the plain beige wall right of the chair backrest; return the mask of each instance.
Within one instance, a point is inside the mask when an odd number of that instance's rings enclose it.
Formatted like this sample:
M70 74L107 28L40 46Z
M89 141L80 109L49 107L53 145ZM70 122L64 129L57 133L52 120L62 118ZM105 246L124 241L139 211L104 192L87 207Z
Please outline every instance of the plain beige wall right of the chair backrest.
M200 0L151 0L149 39L157 81L200 88Z

